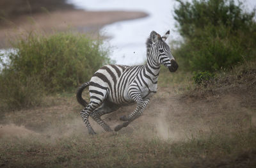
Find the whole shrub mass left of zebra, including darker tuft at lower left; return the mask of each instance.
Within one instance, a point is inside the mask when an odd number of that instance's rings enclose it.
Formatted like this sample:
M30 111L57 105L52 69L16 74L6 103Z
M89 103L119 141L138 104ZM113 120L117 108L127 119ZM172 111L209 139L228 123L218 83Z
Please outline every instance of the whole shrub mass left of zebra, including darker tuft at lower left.
M12 47L16 52L8 52L10 63L0 73L1 102L12 107L37 104L42 93L76 88L109 62L102 42L84 34L29 33Z

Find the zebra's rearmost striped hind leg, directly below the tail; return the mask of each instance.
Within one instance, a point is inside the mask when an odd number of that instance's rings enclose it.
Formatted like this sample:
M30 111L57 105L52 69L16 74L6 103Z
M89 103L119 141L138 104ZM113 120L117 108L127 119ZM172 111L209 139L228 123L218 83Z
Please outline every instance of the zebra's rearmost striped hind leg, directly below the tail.
M101 104L97 103L97 102L93 102L92 100L90 101L90 103L87 105L87 107L84 107L84 109L80 112L81 117L83 118L84 121L84 125L86 126L86 128L88 128L88 132L89 134L96 134L92 128L92 126L89 123L89 116L90 114L92 114L92 112L97 109L97 107L99 107Z

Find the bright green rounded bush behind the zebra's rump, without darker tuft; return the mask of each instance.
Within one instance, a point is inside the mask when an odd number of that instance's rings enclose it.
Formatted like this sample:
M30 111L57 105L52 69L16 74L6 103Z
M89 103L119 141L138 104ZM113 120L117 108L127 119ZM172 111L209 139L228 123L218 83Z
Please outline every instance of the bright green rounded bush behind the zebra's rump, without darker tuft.
M49 93L78 86L109 61L101 42L84 34L29 34L13 47L18 51L9 55L10 68L20 77L38 78Z

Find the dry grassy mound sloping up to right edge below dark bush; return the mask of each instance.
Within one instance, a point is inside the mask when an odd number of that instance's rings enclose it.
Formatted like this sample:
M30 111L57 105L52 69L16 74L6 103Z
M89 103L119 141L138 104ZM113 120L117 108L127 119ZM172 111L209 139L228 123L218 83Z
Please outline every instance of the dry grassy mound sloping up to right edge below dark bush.
M191 90L191 96L212 96L220 93L243 92L249 93L255 98L253 91L256 86L256 59L245 61L232 70L222 70L216 73L216 77L203 82L194 90ZM254 92L255 93L255 92ZM249 97L249 96L248 96Z

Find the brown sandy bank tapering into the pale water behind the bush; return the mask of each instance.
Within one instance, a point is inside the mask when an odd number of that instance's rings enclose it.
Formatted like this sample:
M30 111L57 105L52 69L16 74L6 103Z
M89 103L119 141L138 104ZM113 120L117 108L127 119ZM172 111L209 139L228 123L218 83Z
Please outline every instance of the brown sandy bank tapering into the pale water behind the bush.
M51 13L38 13L31 16L20 16L0 26L0 48L8 47L6 40L23 31L43 30L46 33L52 31L65 31L74 29L81 33L97 34L99 29L120 20L138 19L147 17L147 13L141 11L83 11L62 10Z

